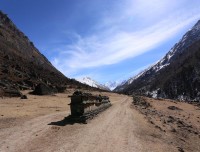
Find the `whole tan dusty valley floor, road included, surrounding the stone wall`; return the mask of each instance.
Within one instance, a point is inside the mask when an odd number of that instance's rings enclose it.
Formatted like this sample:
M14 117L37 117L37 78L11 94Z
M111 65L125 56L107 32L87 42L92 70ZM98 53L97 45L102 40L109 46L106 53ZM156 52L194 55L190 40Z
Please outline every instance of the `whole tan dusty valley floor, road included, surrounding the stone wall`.
M167 123L165 128L159 121L168 113L163 112L163 117L157 115L154 117L151 112L145 114L143 110L148 108L133 106L132 97L124 95L101 93L110 97L112 107L90 120L88 124L60 125L59 122L70 114L68 95L72 92L73 90L69 90L55 96L27 95L27 100L0 99L0 152L199 151L199 110L194 109L196 106L189 105L189 108L188 105L181 106L183 109L181 112L184 113L180 117L190 116L188 119L193 126L192 138L189 139L192 139L194 144L185 148L181 147L177 139L179 135L171 132L172 128L167 129L170 123ZM93 93L99 94L99 92ZM152 105L151 109L155 108L157 113L163 109L165 111L166 107L162 105L175 104L170 101L159 104L157 100L148 100ZM194 114L194 110L197 113ZM169 111L174 119L179 116L174 115L176 111ZM190 142L183 142L185 143ZM194 146L196 148L191 149Z

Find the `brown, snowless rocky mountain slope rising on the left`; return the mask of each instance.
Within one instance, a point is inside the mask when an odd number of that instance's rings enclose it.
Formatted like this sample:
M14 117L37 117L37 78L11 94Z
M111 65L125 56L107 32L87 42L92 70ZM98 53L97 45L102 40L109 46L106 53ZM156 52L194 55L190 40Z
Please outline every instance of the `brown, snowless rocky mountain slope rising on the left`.
M33 89L38 83L88 87L59 72L0 11L0 96L19 96L16 90Z

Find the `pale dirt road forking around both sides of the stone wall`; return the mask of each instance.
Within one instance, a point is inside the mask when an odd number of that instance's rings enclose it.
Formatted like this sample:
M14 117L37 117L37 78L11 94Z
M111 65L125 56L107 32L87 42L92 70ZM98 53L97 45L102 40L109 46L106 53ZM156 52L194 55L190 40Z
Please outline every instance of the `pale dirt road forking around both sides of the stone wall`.
M88 124L59 125L68 111L38 116L0 129L0 151L177 151L170 143L160 140L162 134L151 128L144 116L131 107L132 98L116 95L113 99L113 106Z

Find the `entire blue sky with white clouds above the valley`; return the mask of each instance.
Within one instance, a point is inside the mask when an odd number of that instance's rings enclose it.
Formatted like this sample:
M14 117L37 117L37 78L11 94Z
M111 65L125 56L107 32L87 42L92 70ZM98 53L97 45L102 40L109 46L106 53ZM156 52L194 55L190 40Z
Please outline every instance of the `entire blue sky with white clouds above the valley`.
M200 19L198 0L0 0L0 10L70 78L128 79Z

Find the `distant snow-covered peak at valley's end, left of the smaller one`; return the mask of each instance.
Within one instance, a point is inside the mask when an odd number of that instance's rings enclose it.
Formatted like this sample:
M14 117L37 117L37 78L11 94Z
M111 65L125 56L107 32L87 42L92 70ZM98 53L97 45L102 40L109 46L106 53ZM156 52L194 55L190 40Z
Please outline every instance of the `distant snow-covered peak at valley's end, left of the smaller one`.
M91 87L95 87L95 88L99 88L99 89L102 89L102 90L107 90L107 91L110 91L110 89L103 85L103 84L100 84L98 82L96 82L95 80L92 80L90 77L83 77L83 78L80 78L80 79L77 79L77 81L83 83L83 84L87 84Z

